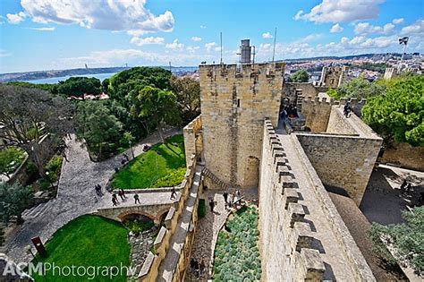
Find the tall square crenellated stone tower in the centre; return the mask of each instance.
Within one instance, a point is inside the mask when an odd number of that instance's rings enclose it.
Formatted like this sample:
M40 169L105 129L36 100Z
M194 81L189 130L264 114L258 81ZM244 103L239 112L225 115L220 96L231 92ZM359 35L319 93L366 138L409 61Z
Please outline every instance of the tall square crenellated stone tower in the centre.
M226 187L257 187L263 121L278 123L284 65L200 65L204 161Z

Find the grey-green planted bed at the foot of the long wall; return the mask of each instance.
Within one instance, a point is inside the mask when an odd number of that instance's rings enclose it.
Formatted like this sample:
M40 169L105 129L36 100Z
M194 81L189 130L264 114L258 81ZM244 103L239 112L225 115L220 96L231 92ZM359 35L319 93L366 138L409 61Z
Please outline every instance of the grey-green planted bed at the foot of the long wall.
M215 248L214 281L259 281L258 209L246 206L227 219Z

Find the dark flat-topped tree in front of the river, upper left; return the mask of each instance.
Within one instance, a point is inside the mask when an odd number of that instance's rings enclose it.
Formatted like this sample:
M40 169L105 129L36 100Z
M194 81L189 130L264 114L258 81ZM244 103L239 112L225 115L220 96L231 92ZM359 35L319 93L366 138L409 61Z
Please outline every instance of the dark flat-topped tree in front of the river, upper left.
M66 81L59 81L57 92L67 96L83 97L84 94L98 95L101 84L94 77L70 77Z

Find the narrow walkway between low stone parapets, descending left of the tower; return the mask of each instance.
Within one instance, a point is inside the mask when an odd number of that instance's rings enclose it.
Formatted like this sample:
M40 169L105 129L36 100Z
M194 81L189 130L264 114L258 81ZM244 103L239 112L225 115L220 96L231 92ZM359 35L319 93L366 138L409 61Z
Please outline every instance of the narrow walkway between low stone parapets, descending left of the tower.
M157 281L169 282L174 278L174 269L180 260L183 244L187 237L187 233L189 232L188 230L190 228L192 213L197 212L197 210L194 210L194 205L196 203L196 199L198 198L200 175L202 169L203 167L200 165L196 167L196 173L193 178L193 184L191 184L189 197L186 200L182 214L178 219L177 227L174 235L171 238L165 259L160 264Z

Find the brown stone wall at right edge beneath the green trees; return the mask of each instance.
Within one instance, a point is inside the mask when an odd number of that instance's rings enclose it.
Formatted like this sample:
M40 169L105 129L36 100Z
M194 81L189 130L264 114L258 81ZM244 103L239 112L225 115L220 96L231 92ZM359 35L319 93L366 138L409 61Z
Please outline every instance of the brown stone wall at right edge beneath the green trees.
M412 147L408 143L394 144L387 148L380 163L424 171L424 147Z

